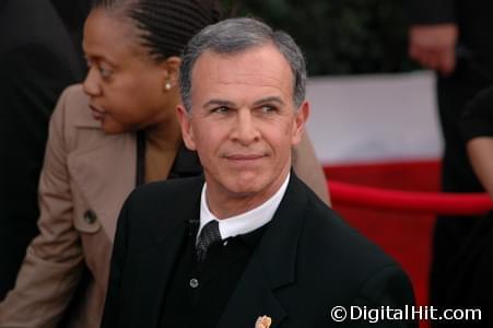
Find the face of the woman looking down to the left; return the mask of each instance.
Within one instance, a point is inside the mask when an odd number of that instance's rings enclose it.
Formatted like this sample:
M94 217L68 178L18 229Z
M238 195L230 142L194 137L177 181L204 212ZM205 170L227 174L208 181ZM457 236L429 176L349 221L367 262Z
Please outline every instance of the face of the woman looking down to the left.
M175 119L179 60L152 60L137 33L130 21L104 9L93 10L85 21L83 48L90 69L83 86L105 133Z

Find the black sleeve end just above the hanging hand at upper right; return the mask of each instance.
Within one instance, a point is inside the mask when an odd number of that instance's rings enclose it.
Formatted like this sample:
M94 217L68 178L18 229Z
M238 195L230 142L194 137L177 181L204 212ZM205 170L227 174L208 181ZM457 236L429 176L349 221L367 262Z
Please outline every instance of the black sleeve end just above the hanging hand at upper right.
M456 22L456 2L459 0L406 0L411 24L442 24Z

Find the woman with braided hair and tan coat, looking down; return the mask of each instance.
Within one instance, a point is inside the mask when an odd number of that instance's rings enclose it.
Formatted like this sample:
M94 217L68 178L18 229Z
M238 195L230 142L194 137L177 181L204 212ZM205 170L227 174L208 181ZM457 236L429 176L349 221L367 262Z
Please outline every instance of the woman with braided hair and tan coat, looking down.
M83 40L89 73L52 114L40 233L0 303L0 327L56 327L62 318L63 327L99 327L124 200L140 184L201 174L175 117L179 56L219 16L204 0L94 2ZM298 176L328 201L309 141L295 152Z

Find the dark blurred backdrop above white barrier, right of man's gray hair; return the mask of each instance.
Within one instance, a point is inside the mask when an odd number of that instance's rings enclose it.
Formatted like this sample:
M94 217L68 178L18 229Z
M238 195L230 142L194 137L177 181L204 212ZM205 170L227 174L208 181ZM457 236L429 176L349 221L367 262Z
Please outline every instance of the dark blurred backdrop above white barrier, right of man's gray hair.
M309 74L404 72L407 22L401 0L223 0L235 14L263 19L291 34Z

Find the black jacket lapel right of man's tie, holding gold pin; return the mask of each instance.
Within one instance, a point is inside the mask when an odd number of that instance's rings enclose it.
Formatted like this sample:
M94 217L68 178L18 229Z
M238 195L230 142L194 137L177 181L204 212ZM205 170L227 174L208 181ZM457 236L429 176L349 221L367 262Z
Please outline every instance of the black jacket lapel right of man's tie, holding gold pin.
M292 173L286 192L243 273L218 325L255 327L259 316L272 318L280 327L286 313L275 291L295 282L296 256L307 197Z

